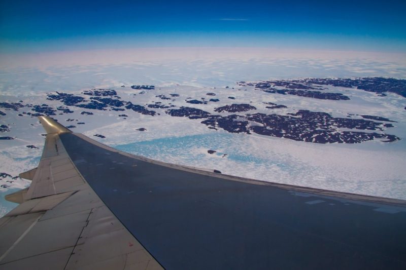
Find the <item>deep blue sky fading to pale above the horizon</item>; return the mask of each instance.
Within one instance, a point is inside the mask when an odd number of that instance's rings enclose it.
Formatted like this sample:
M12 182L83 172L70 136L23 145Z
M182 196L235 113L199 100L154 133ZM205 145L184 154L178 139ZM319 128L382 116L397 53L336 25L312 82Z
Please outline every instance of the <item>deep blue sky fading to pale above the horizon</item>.
M406 1L1 1L0 52L273 47L406 52Z

